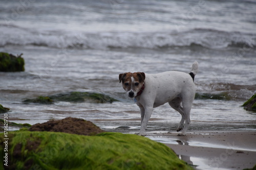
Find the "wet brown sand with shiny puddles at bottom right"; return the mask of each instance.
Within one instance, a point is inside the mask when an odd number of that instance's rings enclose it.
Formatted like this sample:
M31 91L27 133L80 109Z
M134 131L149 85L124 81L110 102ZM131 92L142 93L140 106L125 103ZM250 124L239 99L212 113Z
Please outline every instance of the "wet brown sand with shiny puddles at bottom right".
M196 169L244 169L256 164L256 131L148 133Z

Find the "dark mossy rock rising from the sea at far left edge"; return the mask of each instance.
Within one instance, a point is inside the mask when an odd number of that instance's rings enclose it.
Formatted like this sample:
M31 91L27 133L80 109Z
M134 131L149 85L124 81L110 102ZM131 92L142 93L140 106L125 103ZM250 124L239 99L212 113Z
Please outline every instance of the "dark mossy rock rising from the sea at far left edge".
M23 54L14 56L12 54L0 52L0 71L25 71L25 61Z

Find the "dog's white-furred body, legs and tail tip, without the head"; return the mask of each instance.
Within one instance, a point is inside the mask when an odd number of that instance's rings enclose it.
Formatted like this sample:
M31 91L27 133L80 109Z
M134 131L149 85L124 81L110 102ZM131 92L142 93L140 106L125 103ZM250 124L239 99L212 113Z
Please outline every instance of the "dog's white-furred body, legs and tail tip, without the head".
M195 75L198 72L198 63L194 62L192 70ZM180 135L185 135L190 124L190 109L195 98L196 89L191 76L185 72L166 71L159 74L145 75L145 89L136 98L136 104L141 112L141 128L139 135L144 136L146 125L151 117L153 108L165 103L177 110L182 118L177 131L182 130ZM182 107L181 107L182 102ZM185 126L183 128L183 123Z

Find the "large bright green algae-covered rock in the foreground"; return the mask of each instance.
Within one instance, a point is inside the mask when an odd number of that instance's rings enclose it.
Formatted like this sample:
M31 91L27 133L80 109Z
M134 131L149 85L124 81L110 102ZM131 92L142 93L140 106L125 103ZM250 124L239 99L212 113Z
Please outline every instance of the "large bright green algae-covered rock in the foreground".
M193 169L164 144L132 134L21 131L8 137L9 169Z

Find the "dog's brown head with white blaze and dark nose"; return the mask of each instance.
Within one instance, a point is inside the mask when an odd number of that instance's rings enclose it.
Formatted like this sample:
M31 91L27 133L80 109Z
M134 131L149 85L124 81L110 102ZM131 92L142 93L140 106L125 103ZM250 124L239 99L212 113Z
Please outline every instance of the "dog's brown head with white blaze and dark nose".
M134 98L144 84L144 72L125 72L119 75L119 83L122 82L123 89L130 98Z

